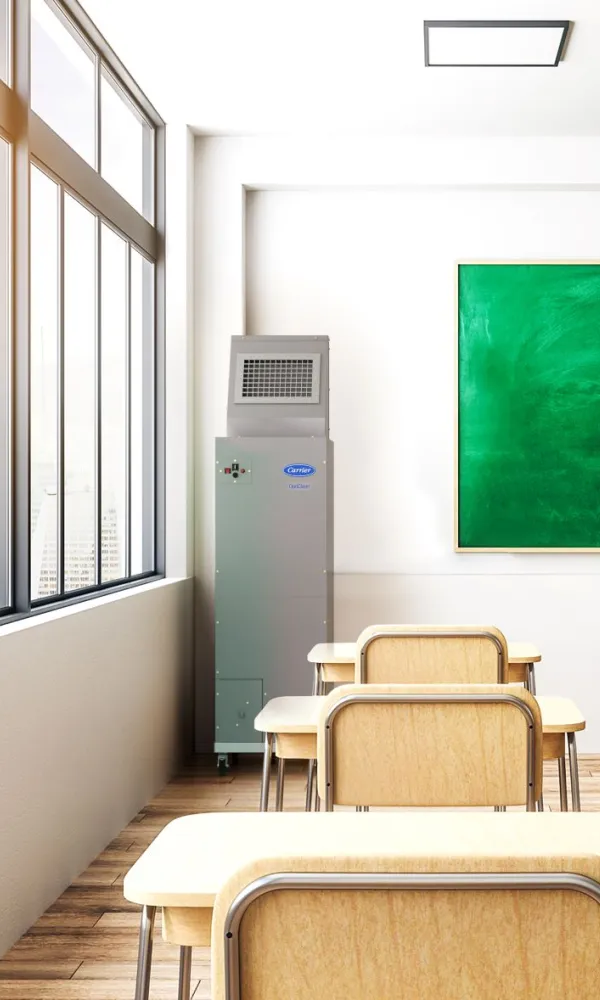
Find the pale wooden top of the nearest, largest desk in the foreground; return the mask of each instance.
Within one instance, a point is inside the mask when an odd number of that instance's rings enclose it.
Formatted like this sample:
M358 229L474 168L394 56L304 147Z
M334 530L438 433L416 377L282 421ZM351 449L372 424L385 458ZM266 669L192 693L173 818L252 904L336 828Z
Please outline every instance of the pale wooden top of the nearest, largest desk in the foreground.
M340 870L373 857L379 871L575 871L600 880L599 813L204 813L174 820L125 876L148 906L212 907L242 866L311 858ZM325 867L324 867L325 865ZM364 870L364 864L361 865Z

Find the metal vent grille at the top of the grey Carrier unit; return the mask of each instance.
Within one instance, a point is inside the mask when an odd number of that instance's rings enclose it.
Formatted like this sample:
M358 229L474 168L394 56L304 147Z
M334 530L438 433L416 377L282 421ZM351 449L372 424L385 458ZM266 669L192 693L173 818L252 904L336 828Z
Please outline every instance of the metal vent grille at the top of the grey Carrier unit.
M318 403L319 354L238 354L236 403Z

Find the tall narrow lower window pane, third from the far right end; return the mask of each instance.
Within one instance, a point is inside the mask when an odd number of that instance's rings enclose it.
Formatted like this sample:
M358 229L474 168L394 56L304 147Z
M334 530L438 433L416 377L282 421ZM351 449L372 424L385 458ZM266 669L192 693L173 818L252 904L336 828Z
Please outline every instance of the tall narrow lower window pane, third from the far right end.
M65 195L65 590L96 583L96 219Z

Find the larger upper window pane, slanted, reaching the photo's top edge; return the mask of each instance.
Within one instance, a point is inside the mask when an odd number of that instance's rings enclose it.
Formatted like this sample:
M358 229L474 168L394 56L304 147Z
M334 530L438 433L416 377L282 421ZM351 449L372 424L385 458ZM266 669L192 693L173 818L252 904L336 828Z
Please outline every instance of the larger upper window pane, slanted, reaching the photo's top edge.
M91 49L45 0L31 0L31 107L95 166L95 62Z

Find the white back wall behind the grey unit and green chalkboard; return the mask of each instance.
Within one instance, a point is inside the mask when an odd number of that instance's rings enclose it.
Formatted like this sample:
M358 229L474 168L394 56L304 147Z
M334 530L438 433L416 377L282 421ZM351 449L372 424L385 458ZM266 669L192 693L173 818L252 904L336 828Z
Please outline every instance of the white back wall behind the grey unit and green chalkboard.
M229 337L328 334L336 637L374 621L494 622L540 646L539 689L574 697L589 720L580 746L600 749L599 558L453 551L455 262L597 259L599 153L596 140L569 139L198 144L196 572L207 621ZM201 691L210 669L207 654Z

